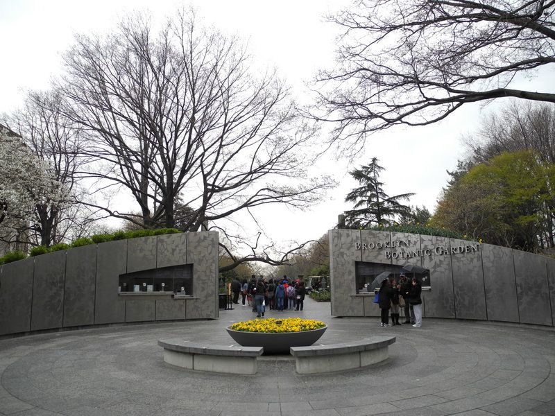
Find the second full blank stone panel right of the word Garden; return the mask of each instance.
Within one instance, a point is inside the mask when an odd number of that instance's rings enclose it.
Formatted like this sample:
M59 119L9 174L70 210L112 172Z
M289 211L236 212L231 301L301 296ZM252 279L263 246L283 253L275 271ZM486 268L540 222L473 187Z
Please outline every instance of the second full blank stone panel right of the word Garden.
M546 257L513 250L513 258L520 322L551 325Z

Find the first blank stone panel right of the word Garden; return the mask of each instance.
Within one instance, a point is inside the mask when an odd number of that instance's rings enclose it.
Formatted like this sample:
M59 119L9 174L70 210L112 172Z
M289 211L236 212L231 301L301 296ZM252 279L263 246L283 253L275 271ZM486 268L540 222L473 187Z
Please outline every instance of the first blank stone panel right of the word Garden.
M481 261L488 320L519 322L513 250L482 244Z

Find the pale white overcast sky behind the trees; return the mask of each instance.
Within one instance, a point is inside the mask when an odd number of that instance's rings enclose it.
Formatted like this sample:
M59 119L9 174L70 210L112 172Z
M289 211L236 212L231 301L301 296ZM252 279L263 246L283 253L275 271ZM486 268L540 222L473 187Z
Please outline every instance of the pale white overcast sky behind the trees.
M337 28L324 15L349 6L350 1L0 0L0 113L21 105L24 89L48 87L51 77L60 73L60 53L73 33L103 33L130 10L148 9L162 18L182 4L194 5L207 24L247 40L255 60L276 67L298 99L307 101L305 83L319 68L334 64ZM522 78L515 86L547 91L554 89L554 81L554 73L544 71L535 78ZM446 169L452 170L463 156L461 136L475 130L481 117L501 104L470 105L436 125L377 133L365 153L351 163L329 155L316 168L340 182L330 198L311 211L265 209L258 211L257 218L275 241L318 238L335 225L338 214L350 209L343 200L357 184L348 170L372 157L386 169L381 177L386 193L415 192L411 205L433 211L447 181Z

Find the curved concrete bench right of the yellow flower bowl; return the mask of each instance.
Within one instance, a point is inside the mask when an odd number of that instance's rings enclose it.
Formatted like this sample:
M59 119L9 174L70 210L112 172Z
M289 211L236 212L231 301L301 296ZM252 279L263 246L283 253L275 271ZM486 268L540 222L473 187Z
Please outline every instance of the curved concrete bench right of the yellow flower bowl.
M389 357L388 347L394 336L373 336L344 344L291 347L299 374L315 374L379 363Z

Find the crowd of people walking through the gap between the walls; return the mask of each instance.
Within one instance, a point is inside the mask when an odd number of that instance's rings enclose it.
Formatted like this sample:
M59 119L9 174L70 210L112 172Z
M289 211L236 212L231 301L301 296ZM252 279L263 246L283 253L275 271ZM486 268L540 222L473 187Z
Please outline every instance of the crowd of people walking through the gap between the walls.
M233 279L231 290L232 302L239 304L239 295L241 295L241 304L251 306L253 312L257 313L257 318L264 316L266 308L278 312L286 309L302 311L307 294L305 283L302 280L290 280L287 276L282 279L266 280L265 278L256 279L253 275L250 281L243 279L242 282Z

